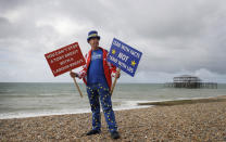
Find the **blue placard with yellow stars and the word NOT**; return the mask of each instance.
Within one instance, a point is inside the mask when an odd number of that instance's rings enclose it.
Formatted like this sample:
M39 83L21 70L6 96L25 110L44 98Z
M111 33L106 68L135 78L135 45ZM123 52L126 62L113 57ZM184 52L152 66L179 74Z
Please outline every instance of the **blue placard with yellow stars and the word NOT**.
M114 38L108 61L134 77L141 55L140 51Z

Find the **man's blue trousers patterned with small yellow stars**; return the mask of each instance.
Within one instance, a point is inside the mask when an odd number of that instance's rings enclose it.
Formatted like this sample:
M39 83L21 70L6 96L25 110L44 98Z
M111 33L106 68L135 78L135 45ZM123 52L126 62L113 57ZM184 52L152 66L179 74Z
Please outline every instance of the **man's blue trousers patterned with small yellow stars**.
M111 94L108 87L101 83L87 86L87 93L92 112L92 130L101 129L100 102L110 132L117 130Z

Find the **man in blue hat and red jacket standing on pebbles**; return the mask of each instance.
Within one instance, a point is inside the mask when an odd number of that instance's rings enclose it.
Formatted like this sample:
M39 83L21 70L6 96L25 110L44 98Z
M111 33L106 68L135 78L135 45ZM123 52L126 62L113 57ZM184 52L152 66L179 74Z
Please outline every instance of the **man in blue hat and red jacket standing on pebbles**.
M112 86L111 75L120 78L116 67L108 62L108 51L99 47L100 36L96 30L88 33L87 41L91 50L86 54L86 65L79 73L71 72L71 77L83 78L87 85L87 93L92 112L92 130L87 135L101 132L100 102L104 113L105 121L111 132L112 139L118 139L115 115L112 109L110 89ZM99 102L100 100L100 102Z

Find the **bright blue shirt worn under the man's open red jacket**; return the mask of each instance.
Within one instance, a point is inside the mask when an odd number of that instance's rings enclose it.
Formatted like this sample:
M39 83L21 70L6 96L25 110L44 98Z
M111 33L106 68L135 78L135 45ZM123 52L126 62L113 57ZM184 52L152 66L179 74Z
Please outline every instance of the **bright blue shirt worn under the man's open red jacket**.
M103 51L101 49L92 50L90 60L87 85L101 83L104 87L109 87L103 69Z

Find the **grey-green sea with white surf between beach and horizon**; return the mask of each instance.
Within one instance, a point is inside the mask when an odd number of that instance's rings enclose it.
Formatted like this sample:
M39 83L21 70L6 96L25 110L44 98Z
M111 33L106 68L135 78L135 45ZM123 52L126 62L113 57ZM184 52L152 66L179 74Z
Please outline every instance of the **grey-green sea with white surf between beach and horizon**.
M80 98L74 83L0 82L0 119L90 113L84 83ZM112 95L113 109L130 109L137 103L204 99L226 94L226 83L217 89L167 88L163 83L117 83Z

